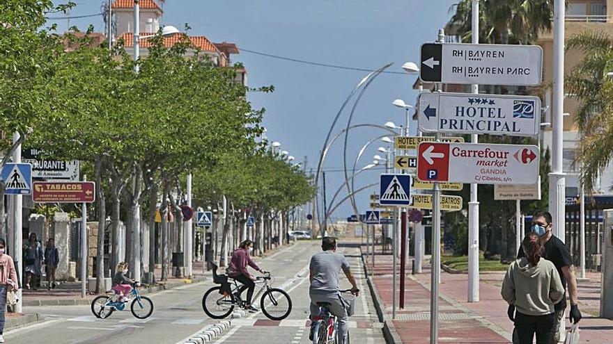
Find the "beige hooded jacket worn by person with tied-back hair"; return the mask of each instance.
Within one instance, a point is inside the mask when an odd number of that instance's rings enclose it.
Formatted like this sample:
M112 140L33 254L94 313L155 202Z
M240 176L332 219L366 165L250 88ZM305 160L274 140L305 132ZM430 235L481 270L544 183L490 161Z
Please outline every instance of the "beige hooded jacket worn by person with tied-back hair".
M509 265L502 282L502 298L528 316L554 313L554 304L564 297L564 286L551 261L541 258L531 265L522 257Z

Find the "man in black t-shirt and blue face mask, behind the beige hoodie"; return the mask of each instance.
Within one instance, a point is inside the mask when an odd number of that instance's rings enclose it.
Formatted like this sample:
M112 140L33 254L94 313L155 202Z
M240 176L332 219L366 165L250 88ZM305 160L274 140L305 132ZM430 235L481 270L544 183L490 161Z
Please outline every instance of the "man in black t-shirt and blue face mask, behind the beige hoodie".
M551 343L564 343L566 337L566 321L564 319L566 311L566 284L568 284L568 296L571 299L571 311L569 318L571 322L577 323L581 320L581 312L577 306L577 279L573 267L573 259L571 251L562 243L562 240L556 238L552 230L552 216L547 211L537 211L532 215L531 231L539 236L543 245L543 258L551 261L559 274L559 277L564 287L564 297L561 302L555 305L555 334ZM524 249L520 247L518 259L525 257ZM511 321L514 320L515 307L509 306L508 316ZM513 343L517 344L517 338L513 335Z

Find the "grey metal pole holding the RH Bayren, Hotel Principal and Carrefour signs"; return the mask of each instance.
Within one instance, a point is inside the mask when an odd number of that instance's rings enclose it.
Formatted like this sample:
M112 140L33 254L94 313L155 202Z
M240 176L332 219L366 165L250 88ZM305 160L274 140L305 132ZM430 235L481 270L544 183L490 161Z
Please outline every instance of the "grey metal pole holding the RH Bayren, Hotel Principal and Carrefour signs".
M438 31L438 42L445 42L445 33ZM437 92L442 92L442 84L436 85ZM436 133L436 142L440 142L440 133ZM438 287L440 283L440 185L434 183L432 204L432 272L430 274L430 344L438 343Z

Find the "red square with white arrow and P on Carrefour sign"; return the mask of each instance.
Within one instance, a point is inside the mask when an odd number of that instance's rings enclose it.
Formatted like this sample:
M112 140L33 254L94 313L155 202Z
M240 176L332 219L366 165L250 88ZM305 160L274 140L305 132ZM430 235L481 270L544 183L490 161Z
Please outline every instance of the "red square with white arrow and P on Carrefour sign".
M417 178L421 181L449 180L449 143L424 142L419 145Z

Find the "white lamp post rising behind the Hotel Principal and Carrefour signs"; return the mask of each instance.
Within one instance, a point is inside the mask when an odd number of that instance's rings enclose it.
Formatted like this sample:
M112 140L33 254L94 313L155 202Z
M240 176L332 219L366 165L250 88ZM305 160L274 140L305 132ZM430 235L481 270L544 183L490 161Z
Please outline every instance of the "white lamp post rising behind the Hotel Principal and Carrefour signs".
M479 0L472 0L472 43L479 44ZM472 85L472 93L479 94L479 85ZM479 142L472 134L470 142ZM468 202L468 302L479 302L479 201L477 184L470 184Z

